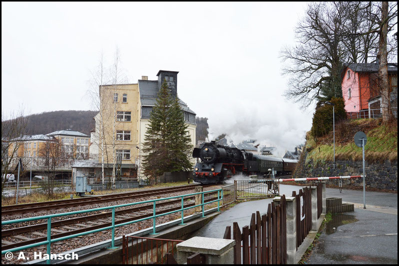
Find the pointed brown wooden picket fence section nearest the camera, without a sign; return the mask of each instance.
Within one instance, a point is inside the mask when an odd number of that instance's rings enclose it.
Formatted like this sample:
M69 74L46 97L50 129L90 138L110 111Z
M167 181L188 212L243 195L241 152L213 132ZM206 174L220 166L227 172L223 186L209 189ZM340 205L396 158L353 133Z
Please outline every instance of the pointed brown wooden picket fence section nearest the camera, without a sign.
M231 227L226 226L224 239L231 239ZM252 213L249 226L233 222L232 238L234 264L285 264L286 263L286 205L285 195L280 203L268 204L267 213ZM241 244L242 242L242 244Z

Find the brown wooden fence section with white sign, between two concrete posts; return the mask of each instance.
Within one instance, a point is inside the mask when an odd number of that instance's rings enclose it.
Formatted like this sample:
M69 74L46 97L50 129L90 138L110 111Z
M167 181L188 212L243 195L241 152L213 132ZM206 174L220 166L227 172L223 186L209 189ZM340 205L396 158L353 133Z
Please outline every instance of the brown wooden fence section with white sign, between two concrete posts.
M296 195L292 191L296 202L296 250L311 229L311 188L304 187Z

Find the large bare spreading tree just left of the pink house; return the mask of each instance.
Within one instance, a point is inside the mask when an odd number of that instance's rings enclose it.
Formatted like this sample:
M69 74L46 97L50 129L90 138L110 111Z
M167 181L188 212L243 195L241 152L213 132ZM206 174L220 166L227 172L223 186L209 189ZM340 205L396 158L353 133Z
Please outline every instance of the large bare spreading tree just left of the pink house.
M284 93L287 99L307 107L320 97L323 84L333 97L342 97L340 71L345 52L340 41L347 12L344 2L309 4L295 29L297 45L281 51L282 60L288 61L283 74L290 76Z

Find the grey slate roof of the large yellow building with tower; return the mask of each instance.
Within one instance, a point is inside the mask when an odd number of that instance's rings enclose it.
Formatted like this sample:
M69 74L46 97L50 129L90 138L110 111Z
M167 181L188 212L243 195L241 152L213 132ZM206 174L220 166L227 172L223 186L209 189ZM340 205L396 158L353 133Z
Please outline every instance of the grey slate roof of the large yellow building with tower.
M169 71L174 72L174 71ZM155 106L158 98L158 81L157 80L138 80L138 88L140 92L141 106ZM188 108L187 104L178 99L181 110L194 114L194 111Z

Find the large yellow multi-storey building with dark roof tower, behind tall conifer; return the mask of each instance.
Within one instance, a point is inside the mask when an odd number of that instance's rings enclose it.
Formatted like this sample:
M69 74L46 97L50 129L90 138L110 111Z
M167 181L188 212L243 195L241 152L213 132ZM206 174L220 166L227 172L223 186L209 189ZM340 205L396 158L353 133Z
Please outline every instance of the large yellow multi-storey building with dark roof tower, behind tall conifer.
M136 84L104 85L100 86L99 92L103 106L104 137L107 161L112 163L112 137L113 121L115 121L115 147L117 154L121 154L121 163L129 164L129 171L134 169L138 173L138 179L145 179L141 173L142 143L149 124L150 113L155 106L158 91L163 80L166 80L170 93L177 97L177 73L176 71L159 70L156 74L157 80L148 80L142 76ZM179 99L183 111L185 123L191 137L191 144L195 146L195 113L188 108L187 104ZM115 113L116 111L116 113ZM116 119L114 119L116 115ZM100 114L95 117L95 132L91 139L91 150L98 151L98 162L101 163L100 145ZM104 149L105 150L105 149ZM110 151L110 152L109 152ZM106 159L104 159L106 163ZM193 160L194 163L194 160ZM125 167L126 168L126 167ZM132 176L131 172L122 175Z

